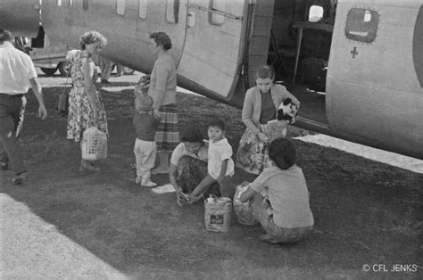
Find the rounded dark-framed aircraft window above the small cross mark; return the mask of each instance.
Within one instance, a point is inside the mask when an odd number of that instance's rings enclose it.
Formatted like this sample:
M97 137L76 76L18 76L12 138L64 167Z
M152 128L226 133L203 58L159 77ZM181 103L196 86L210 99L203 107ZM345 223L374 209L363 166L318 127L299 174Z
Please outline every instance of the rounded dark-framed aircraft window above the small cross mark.
M378 22L377 12L353 8L348 12L345 36L351 40L369 44L376 38Z

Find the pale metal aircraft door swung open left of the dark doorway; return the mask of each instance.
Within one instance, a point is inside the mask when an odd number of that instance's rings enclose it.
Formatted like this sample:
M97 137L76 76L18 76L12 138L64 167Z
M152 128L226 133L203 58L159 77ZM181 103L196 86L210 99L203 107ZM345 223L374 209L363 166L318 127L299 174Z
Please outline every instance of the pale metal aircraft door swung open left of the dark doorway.
M178 65L178 83L207 89L230 100L242 63L242 0L188 1L187 31ZM200 86L201 85L201 86Z

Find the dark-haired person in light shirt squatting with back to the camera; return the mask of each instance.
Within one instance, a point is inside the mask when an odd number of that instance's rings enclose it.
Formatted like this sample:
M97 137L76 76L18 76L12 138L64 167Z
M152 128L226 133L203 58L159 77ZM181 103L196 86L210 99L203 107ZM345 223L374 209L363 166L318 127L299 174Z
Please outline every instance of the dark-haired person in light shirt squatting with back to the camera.
M303 170L295 164L294 144L278 138L270 144L271 166L240 194L250 201L253 215L266 234L261 241L296 243L311 232L314 224Z

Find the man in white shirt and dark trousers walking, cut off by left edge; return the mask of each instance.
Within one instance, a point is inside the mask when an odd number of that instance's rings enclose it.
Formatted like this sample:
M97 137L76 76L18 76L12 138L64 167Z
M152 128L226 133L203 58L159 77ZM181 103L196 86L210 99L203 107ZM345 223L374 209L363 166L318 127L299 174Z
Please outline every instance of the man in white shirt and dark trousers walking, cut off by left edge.
M3 155L2 169L7 169L8 161L12 164L15 176L12 184L20 185L28 180L16 132L21 123L22 104L29 86L37 98L38 116L47 118L42 87L37 80L37 71L28 54L24 54L13 45L12 33L0 29L0 151ZM24 107L23 107L24 108Z

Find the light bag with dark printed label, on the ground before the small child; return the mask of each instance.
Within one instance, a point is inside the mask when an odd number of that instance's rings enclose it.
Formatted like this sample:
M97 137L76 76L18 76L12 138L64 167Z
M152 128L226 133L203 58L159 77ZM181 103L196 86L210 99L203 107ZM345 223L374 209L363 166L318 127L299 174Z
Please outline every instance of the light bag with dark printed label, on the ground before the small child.
M205 229L212 232L227 233L232 216L232 200L228 197L211 196L204 200Z

